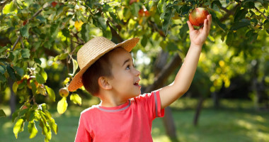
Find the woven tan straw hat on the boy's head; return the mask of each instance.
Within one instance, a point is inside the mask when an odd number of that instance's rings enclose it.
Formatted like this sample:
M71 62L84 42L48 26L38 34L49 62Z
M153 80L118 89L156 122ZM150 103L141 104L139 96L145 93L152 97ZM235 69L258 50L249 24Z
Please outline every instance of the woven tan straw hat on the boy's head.
M93 65L96 60L101 58L101 56L108 53L110 50L114 48L124 48L128 52L132 50L132 48L137 45L139 38L132 38L130 40L125 40L122 43L115 44L112 41L108 40L104 37L96 37L89 40L85 43L77 53L77 61L79 64L80 71L75 75L74 79L70 82L68 86L68 90L70 92L76 91L83 86L82 84L82 75L88 67Z

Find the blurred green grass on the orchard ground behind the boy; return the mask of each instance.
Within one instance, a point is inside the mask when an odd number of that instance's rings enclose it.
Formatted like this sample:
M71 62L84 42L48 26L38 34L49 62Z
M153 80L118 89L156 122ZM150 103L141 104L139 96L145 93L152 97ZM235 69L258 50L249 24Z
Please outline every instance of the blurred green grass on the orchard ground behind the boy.
M252 103L238 100L222 100L225 107L212 109L212 102L205 102L202 109L198 126L193 126L195 114L195 99L183 98L173 103L173 119L176 124L176 133L179 141L190 142L265 142L269 141L269 113L268 111L255 111ZM79 122L79 113L83 107L71 106L68 111L59 115L52 110L59 127L57 135L52 134L55 142L74 141L76 129ZM18 139L13 134L13 123L8 118L0 118L0 141L44 141L45 136L41 134L38 127L38 135L29 139L27 124L24 131L18 133ZM152 126L154 142L171 141L164 131L161 119L155 119Z

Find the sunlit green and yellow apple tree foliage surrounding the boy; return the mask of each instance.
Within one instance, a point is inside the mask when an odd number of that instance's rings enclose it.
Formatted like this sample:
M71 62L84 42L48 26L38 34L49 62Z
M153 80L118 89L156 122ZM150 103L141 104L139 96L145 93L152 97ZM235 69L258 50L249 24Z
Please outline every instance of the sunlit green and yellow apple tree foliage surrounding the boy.
M18 99L11 110L14 135L19 139L28 122L29 138L42 133L50 141L58 130L50 105L64 114L69 105L81 105L89 96L84 87L76 92L66 88L79 71L77 51L95 36L115 43L139 37L132 55L137 60L144 55L137 65L143 72L142 90L171 83L169 77L190 45L187 21L202 26L199 14L212 15L212 30L193 82L193 88L202 90L199 95L208 97L246 73L256 83L268 85L268 4L263 0L1 1L0 98L9 87ZM6 116L4 109L0 108L0 116ZM36 129L37 122L42 132Z

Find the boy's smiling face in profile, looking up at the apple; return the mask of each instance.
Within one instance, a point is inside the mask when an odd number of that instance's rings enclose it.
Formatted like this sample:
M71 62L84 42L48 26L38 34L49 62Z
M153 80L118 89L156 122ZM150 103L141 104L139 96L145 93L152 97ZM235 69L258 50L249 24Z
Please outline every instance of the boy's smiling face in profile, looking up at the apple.
M135 69L132 55L122 48L116 48L110 55L113 78L108 82L112 91L121 99L130 99L141 93L140 72Z

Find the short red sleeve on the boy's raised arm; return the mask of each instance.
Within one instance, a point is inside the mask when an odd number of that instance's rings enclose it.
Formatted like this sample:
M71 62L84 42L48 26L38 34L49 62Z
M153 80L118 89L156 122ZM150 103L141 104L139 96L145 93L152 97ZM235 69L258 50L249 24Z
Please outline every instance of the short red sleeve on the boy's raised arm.
M164 116L164 109L161 109L159 90L147 94L141 94L136 97L135 100L139 104L144 105L144 109L146 109L147 114L151 117L151 119Z

